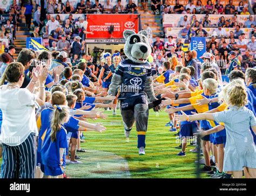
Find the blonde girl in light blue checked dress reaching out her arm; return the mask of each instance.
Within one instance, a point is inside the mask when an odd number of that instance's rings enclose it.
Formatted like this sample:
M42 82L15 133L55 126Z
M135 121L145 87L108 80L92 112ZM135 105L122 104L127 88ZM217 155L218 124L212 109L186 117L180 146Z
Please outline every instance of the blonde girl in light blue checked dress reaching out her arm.
M252 111L245 107L247 102L245 87L236 80L227 84L220 93L220 98L230 109L218 113L202 113L187 116L178 116L179 120L214 120L218 123L225 123L226 146L224 157L224 171L230 171L233 178L242 178L242 169L248 171L246 178L256 178L256 151L253 143L250 126L256 133L256 120ZM221 129L220 129L221 130ZM201 136L206 136L219 129L212 129L200 132Z

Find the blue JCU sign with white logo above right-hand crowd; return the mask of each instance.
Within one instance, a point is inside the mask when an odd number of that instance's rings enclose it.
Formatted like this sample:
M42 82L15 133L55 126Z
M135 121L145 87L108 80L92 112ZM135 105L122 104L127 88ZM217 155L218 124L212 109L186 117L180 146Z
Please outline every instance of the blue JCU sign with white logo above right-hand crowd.
M197 51L197 58L203 63L203 59L199 58L206 52L205 37L191 37L190 50Z

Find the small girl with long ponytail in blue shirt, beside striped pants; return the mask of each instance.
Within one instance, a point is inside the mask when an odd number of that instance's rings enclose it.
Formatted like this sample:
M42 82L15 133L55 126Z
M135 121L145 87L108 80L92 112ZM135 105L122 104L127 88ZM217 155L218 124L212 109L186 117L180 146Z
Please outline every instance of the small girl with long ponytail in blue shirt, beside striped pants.
M46 131L41 149L43 178L63 178L63 154L68 147L64 124L69 121L68 107L57 106L53 111L51 126Z

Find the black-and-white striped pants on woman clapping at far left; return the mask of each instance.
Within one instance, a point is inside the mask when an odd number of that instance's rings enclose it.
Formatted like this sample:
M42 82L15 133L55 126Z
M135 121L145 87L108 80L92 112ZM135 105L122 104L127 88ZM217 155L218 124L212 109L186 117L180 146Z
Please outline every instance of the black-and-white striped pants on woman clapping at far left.
M35 133L18 146L3 144L2 178L35 178Z

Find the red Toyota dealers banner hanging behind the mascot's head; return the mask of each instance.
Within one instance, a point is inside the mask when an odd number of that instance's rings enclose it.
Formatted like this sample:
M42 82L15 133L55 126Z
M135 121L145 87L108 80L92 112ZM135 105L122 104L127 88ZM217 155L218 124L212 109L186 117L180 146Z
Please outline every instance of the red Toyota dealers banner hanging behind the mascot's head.
M137 14L89 14L87 18L87 31L93 32L86 35L91 39L123 38L124 30L138 32L139 16Z

